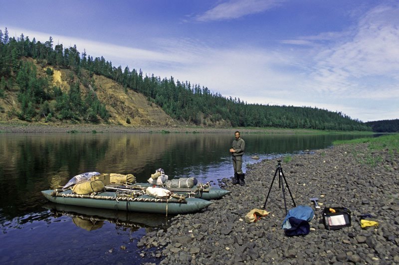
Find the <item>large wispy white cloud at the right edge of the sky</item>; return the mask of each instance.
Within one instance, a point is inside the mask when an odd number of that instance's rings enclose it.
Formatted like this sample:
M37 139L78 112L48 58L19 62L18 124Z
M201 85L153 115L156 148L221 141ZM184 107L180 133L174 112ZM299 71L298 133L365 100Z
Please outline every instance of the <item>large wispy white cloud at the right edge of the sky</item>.
M315 56L310 75L319 91L354 97L398 97L399 8L378 6L360 19L349 41L336 41ZM389 80L390 82L387 82Z

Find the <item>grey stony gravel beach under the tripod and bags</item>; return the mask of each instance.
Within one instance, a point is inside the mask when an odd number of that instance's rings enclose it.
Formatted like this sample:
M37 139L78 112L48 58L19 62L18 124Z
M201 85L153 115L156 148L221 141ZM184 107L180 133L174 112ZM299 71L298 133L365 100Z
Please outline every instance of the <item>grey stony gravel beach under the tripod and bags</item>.
M174 217L166 231L148 233L138 247L161 264L398 264L399 154L370 152L366 144L339 145L283 159L296 205L311 206L315 213L306 236L287 237L281 229L286 213L278 177L266 204L270 214L256 223L244 221L250 210L263 209L276 170L276 160L263 160L247 168L244 187L226 176L219 185L229 195L200 213ZM370 154L381 162L361 163ZM285 194L288 210L294 208L287 189ZM352 211L352 226L326 230L322 211L338 206ZM363 214L379 226L362 229Z

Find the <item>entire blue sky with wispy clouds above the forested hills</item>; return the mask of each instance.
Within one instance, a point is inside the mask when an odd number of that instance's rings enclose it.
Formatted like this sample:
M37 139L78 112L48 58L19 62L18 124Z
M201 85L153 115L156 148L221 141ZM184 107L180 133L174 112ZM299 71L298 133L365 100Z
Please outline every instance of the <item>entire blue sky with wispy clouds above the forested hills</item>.
M0 0L0 28L247 103L399 118L394 0Z

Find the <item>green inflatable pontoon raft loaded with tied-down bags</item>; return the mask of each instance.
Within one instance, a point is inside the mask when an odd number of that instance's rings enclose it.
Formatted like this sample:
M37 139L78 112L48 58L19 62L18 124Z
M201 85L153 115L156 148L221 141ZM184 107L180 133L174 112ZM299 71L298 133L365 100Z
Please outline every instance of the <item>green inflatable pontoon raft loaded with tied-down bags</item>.
M152 182L159 181L159 184ZM74 176L61 189L42 191L53 203L101 209L155 214L190 214L212 204L230 193L227 190L201 184L196 178L168 181L158 169L149 183L136 183L133 174L87 172Z

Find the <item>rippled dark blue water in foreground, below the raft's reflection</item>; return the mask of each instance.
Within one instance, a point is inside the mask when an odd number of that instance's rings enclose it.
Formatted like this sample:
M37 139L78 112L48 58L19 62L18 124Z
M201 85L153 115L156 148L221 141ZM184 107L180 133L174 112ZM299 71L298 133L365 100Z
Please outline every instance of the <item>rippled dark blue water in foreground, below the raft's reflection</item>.
M159 263L153 257L142 259L137 242L162 227L162 221L144 222L143 216L126 220L118 215L104 218L94 212L90 216L76 213L76 209L49 208L0 223L1 264ZM161 225L153 227L158 224Z

